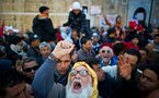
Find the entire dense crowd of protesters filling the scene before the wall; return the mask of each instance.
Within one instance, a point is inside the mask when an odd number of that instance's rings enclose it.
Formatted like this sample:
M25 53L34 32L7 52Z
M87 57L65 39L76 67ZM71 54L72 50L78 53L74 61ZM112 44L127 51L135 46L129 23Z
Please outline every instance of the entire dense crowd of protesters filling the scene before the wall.
M54 28L41 7L33 33L0 36L0 98L159 98L159 28L86 25L80 3Z

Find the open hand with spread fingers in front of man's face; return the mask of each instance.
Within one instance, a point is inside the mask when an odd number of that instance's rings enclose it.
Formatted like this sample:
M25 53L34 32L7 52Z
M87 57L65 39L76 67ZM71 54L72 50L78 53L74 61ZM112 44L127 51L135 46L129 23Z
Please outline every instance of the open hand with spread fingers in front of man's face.
M122 54L118 58L120 75L127 81L130 79L130 74L132 74L132 69L133 69L128 61L129 61L128 58L125 58Z

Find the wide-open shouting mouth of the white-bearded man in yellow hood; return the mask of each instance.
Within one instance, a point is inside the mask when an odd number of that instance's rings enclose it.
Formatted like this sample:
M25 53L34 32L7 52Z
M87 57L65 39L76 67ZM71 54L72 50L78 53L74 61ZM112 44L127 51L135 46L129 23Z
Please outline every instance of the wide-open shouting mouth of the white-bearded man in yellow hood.
M82 91L82 85L80 82L75 81L72 83L72 93L80 94Z

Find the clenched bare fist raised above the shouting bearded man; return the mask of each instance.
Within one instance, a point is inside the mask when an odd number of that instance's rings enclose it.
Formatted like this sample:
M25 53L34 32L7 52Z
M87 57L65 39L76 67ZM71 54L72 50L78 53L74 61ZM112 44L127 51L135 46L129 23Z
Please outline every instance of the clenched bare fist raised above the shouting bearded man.
M69 54L72 51L73 47L75 45L72 45L71 42L61 40L56 45L52 53L55 58L60 59L65 54Z

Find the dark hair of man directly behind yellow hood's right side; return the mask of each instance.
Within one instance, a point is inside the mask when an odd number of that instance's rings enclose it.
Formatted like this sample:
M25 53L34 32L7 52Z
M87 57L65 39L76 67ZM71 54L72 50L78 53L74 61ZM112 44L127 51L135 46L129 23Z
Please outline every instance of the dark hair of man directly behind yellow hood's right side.
M94 57L90 57L90 58L86 59L86 63L88 63L90 65L90 68L93 69L93 65L100 64L100 60Z

